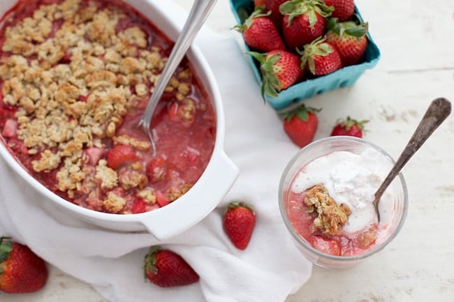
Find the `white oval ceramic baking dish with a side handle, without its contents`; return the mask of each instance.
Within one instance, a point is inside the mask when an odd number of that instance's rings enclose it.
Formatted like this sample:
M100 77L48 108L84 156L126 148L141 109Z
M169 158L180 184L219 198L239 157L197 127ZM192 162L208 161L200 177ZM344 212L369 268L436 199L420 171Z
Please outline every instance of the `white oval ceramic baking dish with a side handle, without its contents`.
M16 0L1 0L0 15L10 10L16 2ZM176 40L180 28L168 17L171 12L163 11L159 7L158 0L124 0L124 2L129 3L142 15L145 15L168 38ZM212 100L217 119L217 132L212 158L205 172L196 184L175 202L160 209L139 214L117 215L92 211L68 202L45 188L0 143L1 156L17 174L29 183L31 188L47 197L45 202L51 204L43 205L46 209L49 209L49 206L59 207L97 227L122 232L147 231L160 240L181 234L200 222L221 202L238 174L237 167L224 152L224 109L212 70L196 45L189 49L187 56ZM56 209L55 213L59 213L59 211Z

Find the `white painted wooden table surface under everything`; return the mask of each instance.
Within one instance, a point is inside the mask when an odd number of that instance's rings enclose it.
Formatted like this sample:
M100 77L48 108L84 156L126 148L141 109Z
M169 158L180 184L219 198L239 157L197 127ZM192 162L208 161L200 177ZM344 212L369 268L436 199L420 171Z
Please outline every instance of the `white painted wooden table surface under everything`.
M193 2L175 1L187 10ZM318 133L329 133L337 117L369 119L365 138L397 157L430 100L454 100L454 1L356 4L369 22L381 60L353 86L307 103L323 107ZM235 20L227 0L218 1L207 22L216 31L232 34ZM454 301L453 168L454 114L404 167L409 215L395 241L352 269L314 268L309 282L286 302ZM54 267L45 289L0 294L0 301L108 302L90 285Z

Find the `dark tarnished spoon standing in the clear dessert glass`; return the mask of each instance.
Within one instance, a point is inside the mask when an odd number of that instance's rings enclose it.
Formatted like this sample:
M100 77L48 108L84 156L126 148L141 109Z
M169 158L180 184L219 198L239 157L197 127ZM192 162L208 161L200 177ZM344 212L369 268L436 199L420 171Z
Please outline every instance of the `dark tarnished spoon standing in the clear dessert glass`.
M381 195L383 195L383 192L385 192L390 183L393 182L395 176L400 173L400 170L404 167L404 165L407 164L411 156L418 151L420 146L424 144L426 139L432 135L434 130L440 126L449 114L451 114L451 103L446 100L446 98L436 98L435 100L432 100L432 103L430 103L430 106L427 108L427 111L413 133L413 136L410 138L407 146L405 146L404 150L400 154L400 157L395 162L393 169L390 170L388 176L386 176L379 189L375 192L373 204L379 221L379 202Z

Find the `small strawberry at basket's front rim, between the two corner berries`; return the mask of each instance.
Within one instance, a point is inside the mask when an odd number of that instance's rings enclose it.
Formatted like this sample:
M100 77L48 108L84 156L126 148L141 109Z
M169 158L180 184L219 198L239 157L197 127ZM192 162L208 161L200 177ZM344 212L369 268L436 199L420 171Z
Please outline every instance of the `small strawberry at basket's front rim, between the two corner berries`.
M339 52L326 42L324 38L317 38L305 45L301 56L301 68L305 68L312 75L328 75L342 68Z

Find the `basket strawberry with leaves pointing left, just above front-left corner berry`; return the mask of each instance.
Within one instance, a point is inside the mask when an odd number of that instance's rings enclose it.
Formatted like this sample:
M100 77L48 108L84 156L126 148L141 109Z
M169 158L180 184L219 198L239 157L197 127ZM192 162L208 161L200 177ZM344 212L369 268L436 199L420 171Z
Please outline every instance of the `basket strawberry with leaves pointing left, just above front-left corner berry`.
M285 50L284 42L268 15L270 12L264 13L264 7L258 6L244 23L237 25L235 29L243 34L244 42L254 50Z

